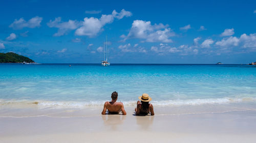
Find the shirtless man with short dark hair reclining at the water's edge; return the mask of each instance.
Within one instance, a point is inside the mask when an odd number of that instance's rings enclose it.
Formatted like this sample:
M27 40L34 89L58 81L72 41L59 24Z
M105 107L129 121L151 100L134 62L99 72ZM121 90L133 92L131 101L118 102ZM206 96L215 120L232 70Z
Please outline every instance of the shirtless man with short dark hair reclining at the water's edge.
M104 104L103 111L101 112L102 115L105 115L106 109L108 109L109 114L118 114L120 111L122 115L126 115L126 111L124 110L124 106L122 102L116 102L118 93L113 92L111 95L111 102L106 101Z

